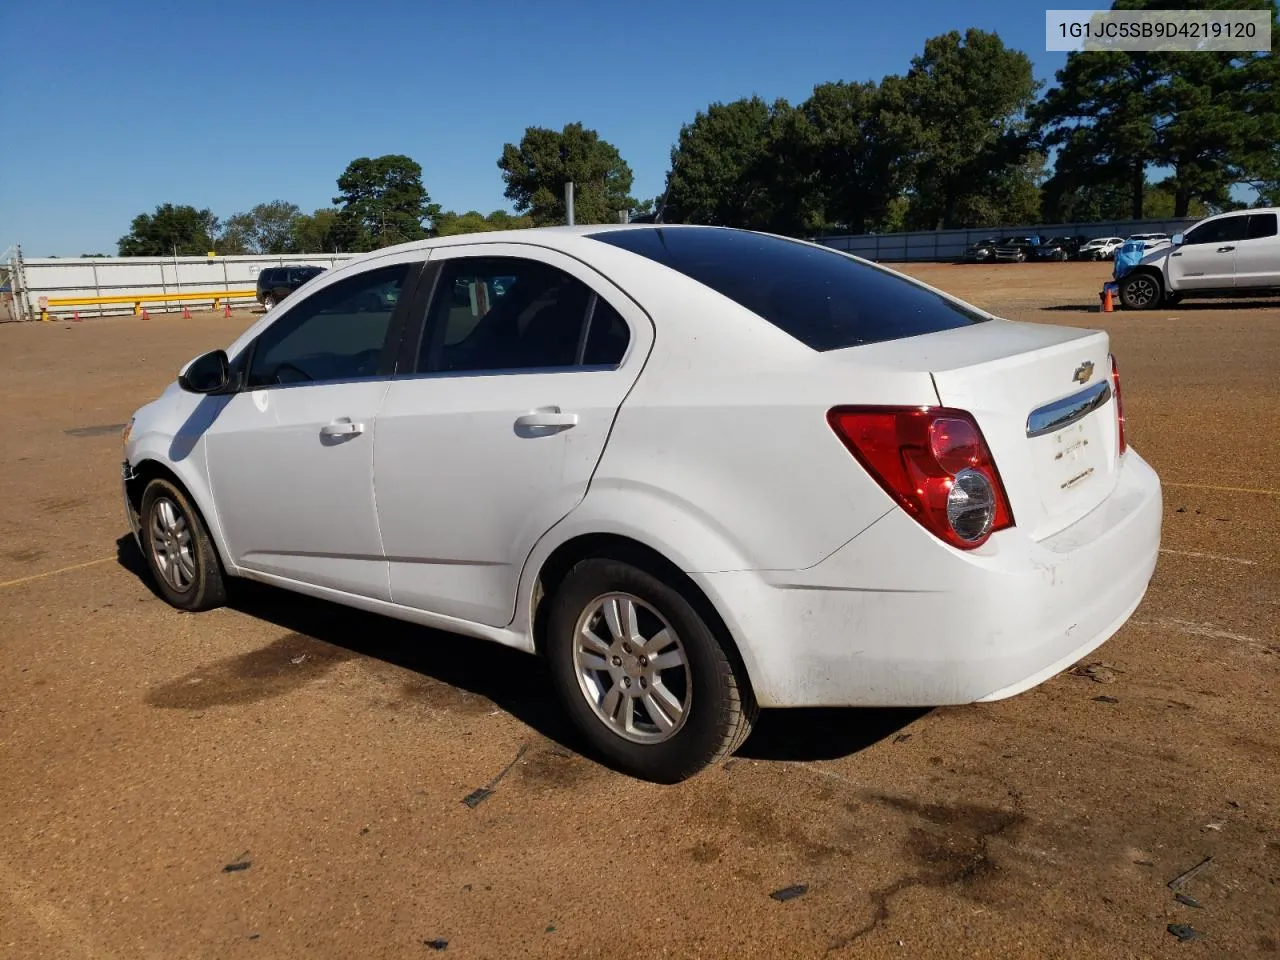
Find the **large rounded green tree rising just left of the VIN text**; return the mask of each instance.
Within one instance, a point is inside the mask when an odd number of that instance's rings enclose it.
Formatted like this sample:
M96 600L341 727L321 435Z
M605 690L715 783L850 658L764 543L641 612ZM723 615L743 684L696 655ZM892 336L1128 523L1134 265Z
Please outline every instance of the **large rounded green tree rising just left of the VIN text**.
M1015 219L1030 205L1027 111L1038 90L1028 56L980 29L927 40L905 77L884 79L881 123L909 147L913 225L986 225L975 220ZM996 209L998 197L1015 207Z

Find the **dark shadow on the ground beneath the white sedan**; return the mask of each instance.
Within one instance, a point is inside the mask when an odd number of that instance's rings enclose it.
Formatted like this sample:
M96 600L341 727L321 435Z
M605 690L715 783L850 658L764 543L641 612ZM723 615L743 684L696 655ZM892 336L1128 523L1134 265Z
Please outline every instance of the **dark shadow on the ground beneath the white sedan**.
M133 536L120 536L115 547L119 566L159 598ZM539 658L250 580L232 581L228 605L288 634L485 698L548 740L604 763L568 722ZM927 713L923 708L762 710L736 755L774 762L837 759L897 735Z

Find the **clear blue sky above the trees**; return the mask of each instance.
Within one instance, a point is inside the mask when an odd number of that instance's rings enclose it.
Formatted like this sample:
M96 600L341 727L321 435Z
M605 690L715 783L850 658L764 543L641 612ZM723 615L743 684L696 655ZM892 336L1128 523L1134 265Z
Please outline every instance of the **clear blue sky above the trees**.
M980 27L1042 81L1025 0L40 0L4 15L0 250L114 255L161 202L227 218L328 206L357 156L408 154L445 209L508 207L497 168L525 128L580 120L663 186L680 125L717 100L792 102L906 70L927 37Z

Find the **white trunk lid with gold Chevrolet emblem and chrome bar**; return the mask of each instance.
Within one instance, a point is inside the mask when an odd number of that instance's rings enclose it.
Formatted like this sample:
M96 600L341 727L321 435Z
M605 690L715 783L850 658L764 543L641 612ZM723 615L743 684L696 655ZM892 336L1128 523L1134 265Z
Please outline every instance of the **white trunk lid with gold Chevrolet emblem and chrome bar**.
M1111 494L1119 434L1105 332L995 319L895 346L897 356L884 352L888 366L927 370L940 402L978 421L1014 524L1033 540Z

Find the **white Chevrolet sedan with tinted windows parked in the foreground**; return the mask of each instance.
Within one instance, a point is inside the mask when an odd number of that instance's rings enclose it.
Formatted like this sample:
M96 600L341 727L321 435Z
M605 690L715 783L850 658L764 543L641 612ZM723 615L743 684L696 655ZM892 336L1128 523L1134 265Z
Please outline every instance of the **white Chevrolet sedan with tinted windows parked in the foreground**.
M449 237L191 361L124 498L175 607L248 577L538 653L672 782L759 707L996 700L1119 630L1161 494L1108 348L760 233Z

